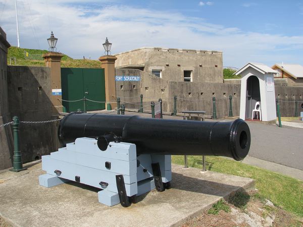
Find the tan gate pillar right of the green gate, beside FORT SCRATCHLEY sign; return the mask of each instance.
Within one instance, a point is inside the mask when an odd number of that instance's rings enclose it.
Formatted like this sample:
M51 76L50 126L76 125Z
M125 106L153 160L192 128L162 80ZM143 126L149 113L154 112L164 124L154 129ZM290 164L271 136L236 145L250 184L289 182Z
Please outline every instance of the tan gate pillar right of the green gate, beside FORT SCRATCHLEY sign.
M101 68L104 69L105 73L105 107L109 101L113 101L116 98L116 80L115 80L115 61L116 56L105 55L100 56L99 61L101 62ZM111 103L112 107L117 107L117 103Z

